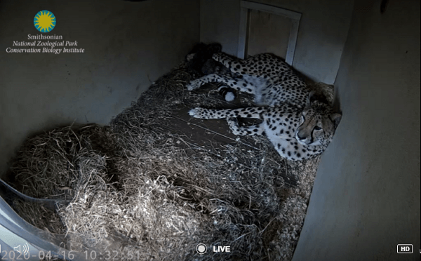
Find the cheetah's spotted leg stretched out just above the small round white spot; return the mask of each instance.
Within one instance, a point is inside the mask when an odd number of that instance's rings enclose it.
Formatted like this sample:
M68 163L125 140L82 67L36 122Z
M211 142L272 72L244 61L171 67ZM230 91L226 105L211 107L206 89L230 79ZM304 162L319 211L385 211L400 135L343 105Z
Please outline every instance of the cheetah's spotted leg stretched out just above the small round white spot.
M187 90L192 91L196 88L199 88L205 83L212 82L224 83L226 86L229 86L236 91L242 91L244 93L254 94L255 90L255 86L248 83L247 81L244 81L242 79L228 79L226 77L219 76L218 74L208 74L199 79L190 81L190 83L187 84Z

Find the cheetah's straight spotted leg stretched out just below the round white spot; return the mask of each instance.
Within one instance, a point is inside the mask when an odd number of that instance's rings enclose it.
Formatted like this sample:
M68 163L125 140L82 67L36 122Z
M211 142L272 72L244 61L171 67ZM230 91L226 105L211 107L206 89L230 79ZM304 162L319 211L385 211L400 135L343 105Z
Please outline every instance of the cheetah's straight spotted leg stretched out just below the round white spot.
M189 111L190 116L199 119L252 118L261 119L265 107L248 107L241 109L205 109L194 108Z

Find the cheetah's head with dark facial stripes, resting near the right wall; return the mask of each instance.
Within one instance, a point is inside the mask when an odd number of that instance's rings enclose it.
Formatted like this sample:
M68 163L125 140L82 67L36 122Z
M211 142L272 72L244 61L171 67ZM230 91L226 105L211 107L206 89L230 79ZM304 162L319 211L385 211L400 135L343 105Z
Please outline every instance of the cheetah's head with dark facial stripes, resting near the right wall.
M302 145L327 147L333 138L342 114L333 112L327 102L315 100L314 92L307 98L295 138Z

